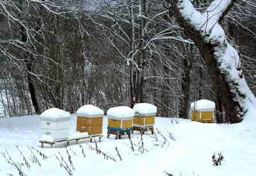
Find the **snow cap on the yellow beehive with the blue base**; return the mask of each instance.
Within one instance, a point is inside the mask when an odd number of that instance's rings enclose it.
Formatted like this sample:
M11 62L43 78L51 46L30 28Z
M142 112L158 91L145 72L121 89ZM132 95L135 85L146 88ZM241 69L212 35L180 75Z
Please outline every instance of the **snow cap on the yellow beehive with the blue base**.
M134 110L128 106L111 107L107 110L108 117L127 118L134 116Z

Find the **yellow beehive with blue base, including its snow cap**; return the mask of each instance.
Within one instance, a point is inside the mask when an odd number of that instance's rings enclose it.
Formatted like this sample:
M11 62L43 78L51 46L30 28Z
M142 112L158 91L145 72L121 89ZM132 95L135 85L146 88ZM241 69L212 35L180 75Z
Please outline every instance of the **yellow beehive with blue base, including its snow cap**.
M133 127L133 109L127 106L112 107L108 109L107 117L108 137L110 134L116 134L119 138L125 133L130 135L130 131Z

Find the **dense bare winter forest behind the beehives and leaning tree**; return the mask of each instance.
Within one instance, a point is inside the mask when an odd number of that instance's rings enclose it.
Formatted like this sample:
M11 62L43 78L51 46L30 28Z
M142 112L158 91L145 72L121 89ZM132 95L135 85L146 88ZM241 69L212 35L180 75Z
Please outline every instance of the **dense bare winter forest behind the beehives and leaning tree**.
M212 1L191 2L203 12ZM218 123L237 122L227 115L233 107L223 98L228 93L213 71L215 63L202 53L210 47L200 48L177 16L169 0L0 1L5 116L41 114L50 107L75 113L86 104L107 110L148 102L157 106L158 116L189 118L191 102L210 99ZM239 76L253 94L255 17L256 2L242 0L219 19L226 40L238 51Z

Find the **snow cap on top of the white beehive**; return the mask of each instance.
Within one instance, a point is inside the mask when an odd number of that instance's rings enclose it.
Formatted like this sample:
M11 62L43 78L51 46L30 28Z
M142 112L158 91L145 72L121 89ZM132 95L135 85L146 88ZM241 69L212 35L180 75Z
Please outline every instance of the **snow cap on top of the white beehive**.
M50 108L48 110L45 110L44 113L40 115L41 119L44 120L56 120L56 119L63 119L63 120L69 120L71 115L64 110L57 109L56 107Z

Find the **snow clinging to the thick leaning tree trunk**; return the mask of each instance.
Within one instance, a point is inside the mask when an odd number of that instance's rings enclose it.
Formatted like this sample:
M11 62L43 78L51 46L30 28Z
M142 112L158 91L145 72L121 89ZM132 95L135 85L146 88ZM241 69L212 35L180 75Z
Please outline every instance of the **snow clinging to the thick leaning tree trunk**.
M204 43L214 47L214 57L217 59L220 71L225 75L234 101L239 103L242 113L238 118L248 117L256 109L256 99L247 86L245 77L237 69L240 67L238 51L228 43L219 19L231 4L231 0L215 0L203 14L195 10L189 0L178 0L177 9L185 22L189 23L202 36ZM243 95L243 96L241 96ZM243 98L242 98L243 97Z

